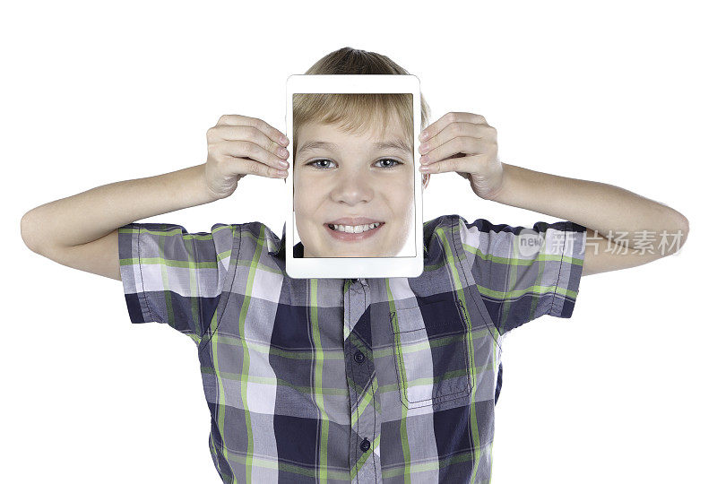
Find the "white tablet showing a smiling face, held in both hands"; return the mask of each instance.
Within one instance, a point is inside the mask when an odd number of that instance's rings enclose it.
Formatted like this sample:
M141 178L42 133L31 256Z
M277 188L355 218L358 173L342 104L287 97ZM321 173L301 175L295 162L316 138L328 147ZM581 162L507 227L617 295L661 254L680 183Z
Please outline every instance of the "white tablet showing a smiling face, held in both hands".
M418 277L419 78L291 75L286 99L289 277Z

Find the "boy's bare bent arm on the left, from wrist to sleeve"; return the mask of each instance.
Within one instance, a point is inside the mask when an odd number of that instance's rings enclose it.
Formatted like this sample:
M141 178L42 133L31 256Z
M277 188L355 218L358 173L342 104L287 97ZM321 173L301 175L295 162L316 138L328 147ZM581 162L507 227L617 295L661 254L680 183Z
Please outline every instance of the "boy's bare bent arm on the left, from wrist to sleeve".
M215 200L201 164L39 205L22 216L22 240L33 252L59 264L121 281L119 227Z

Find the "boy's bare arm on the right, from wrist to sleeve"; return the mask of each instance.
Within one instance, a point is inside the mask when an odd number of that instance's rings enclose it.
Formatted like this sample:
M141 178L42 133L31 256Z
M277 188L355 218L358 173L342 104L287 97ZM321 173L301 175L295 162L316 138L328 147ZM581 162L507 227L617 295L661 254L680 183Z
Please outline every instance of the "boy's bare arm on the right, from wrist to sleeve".
M559 177L503 163L489 200L570 220L587 228L583 276L647 264L684 245L680 212L618 186Z

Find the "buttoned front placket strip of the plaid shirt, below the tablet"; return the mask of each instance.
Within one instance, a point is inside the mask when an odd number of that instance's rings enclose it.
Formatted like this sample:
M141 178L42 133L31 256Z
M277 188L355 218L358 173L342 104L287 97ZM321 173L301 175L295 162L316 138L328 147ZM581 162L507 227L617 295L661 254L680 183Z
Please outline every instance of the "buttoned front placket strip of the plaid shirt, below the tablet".
M365 279L346 280L344 291L344 362L350 400L351 481L381 482L381 415L378 381L371 347L370 295Z

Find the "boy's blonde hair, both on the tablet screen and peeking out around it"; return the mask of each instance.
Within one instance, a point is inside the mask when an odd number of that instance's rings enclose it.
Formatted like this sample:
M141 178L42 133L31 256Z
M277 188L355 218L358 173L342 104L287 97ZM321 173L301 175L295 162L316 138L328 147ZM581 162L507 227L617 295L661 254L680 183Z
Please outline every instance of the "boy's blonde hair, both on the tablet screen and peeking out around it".
M325 55L309 67L307 74L408 74L388 58L376 52L355 48L340 48ZM402 133L413 150L413 99L410 94L347 93L294 94L294 157L296 139L301 125L314 122L336 124L344 133L363 134L371 127L379 130L397 116ZM420 96L421 130L428 125L430 108Z

